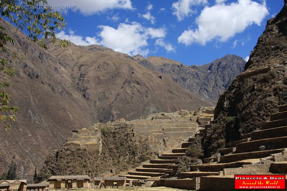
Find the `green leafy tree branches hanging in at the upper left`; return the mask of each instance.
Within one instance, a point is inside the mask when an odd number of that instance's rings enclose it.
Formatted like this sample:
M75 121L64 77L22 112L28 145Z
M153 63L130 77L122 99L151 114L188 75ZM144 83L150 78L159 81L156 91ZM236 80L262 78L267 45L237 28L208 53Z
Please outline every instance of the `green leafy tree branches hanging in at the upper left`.
M2 17L26 33L28 39L43 49L47 47L39 36L50 38L53 44L60 47L67 47L70 44L70 41L56 37L55 32L63 29L66 23L60 13L48 6L46 0L0 0L0 12ZM0 50L7 56L7 58L0 58L1 79L14 76L16 69L8 66L8 59L12 58L14 61L24 59L23 54L10 50L6 46L7 43L14 45L16 42L4 31L5 28L0 25ZM0 80L0 121L6 130L10 130L10 123L15 121L15 114L19 109L16 106L9 106L10 96L4 88L10 86L7 81Z

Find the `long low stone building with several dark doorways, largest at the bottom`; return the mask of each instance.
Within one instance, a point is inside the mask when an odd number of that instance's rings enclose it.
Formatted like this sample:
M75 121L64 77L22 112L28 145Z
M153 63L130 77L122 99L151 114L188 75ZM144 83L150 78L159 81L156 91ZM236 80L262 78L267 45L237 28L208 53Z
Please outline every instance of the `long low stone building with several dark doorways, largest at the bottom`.
M79 176L51 176L49 179L49 190L90 188L91 179L86 175Z

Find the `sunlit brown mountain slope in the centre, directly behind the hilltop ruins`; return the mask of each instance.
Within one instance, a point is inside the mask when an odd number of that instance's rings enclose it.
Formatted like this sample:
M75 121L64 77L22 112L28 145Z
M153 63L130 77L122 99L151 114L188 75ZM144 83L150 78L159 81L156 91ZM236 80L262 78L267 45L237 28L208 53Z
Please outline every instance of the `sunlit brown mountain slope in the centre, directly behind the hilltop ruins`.
M52 46L48 52L62 62L73 63L69 69L77 88L94 108L98 121L133 119L157 111L197 110L200 105L212 105L168 76L148 70L122 53L90 51L75 45L66 49Z

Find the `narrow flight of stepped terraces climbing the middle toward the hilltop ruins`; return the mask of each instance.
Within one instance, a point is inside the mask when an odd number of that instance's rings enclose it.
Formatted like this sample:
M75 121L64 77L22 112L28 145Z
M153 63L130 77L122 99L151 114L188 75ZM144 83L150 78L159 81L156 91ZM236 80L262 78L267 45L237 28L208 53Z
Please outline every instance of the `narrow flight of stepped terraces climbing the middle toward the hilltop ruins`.
M209 123L211 118L200 118L199 121L204 121L205 123ZM198 120L197 120L198 121ZM194 123L192 123L194 125ZM146 124L144 126L147 126ZM205 125L199 126L201 129L198 130L196 133L195 128L193 131L193 135L190 136L190 138L186 139L186 141L183 141L182 144L180 144L178 147L175 147L166 153L163 153L162 155L158 156L155 160L150 160L149 164L143 164L142 167L136 168L133 171L127 172L127 174L119 175L122 177L127 177L127 181L140 181L140 180L158 180L161 177L171 177L174 176L177 172L178 163L180 158L183 155L186 155L186 150L188 149L189 145L194 142L195 136L201 136L202 132L200 132ZM210 126L209 126L210 127ZM142 128L142 127L138 127ZM157 128L157 127L153 127ZM166 128L172 128L172 127L164 127ZM186 127L174 127L174 128L186 128ZM176 131L171 131L176 132ZM184 131L180 131L184 132Z

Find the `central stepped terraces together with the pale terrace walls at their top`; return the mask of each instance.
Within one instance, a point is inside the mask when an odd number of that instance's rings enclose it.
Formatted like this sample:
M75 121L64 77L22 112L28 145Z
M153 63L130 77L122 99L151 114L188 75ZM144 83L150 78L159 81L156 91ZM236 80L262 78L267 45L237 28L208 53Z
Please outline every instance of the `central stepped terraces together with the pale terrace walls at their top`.
M213 113L213 112L209 110L209 114L210 113ZM199 117L199 118L194 118L194 119L191 118L191 119L192 120L186 121L186 123L183 123L183 121L185 120L182 120L182 121L178 120L178 123L171 124L172 126L165 126L166 123L157 125L158 121L156 121L156 124L151 124L150 126L146 124L144 125L141 124L139 125L140 127L135 127L134 132L136 129L136 130L142 130L140 131L141 133L149 131L150 134L153 133L154 130L158 130L159 127L162 128L163 134L166 134L166 133L183 133L184 134L186 132L186 128L190 128L192 130L192 133L183 135L184 137L189 137L189 138L186 138L186 140L183 141L181 144L177 145L176 147L158 156L157 159L150 160L148 164L143 164L141 167L138 167L134 169L133 171L129 171L127 172L127 174L121 174L119 176L127 177L127 181L139 181L139 180L154 181L154 180L158 180L161 177L174 176L177 171L180 158L183 155L186 155L186 150L188 149L189 145L193 143L195 136L197 136L197 134L200 134L200 130L196 128L198 126L198 123L196 121L205 121L205 123L207 122L209 124L212 118L211 117ZM192 123L190 123L190 121ZM187 127L187 124L189 124L192 127ZM145 127L142 127L142 126L145 126ZM198 126L198 127L202 128L202 126ZM140 129L140 128L147 128L147 130ZM197 133L195 134L196 130L197 130ZM176 136L176 135L172 135L172 136Z

